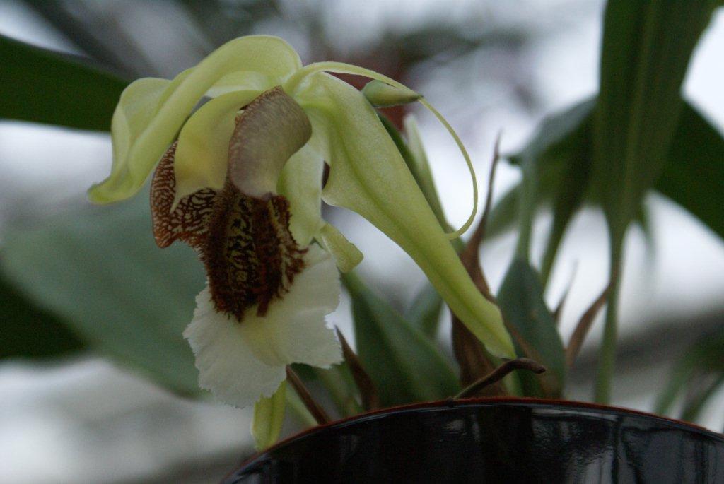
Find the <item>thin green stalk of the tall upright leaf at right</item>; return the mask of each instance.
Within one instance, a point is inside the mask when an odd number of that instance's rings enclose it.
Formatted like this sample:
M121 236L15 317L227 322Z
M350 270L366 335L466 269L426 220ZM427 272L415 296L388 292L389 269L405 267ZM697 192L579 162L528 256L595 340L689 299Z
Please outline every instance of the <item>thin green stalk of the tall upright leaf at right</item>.
M621 256L623 236L611 234L610 277L611 289L606 307L606 320L603 328L603 341L599 352L598 374L596 378L595 400L599 404L611 401L611 386L616 360L616 339L618 336L618 300L621 282Z

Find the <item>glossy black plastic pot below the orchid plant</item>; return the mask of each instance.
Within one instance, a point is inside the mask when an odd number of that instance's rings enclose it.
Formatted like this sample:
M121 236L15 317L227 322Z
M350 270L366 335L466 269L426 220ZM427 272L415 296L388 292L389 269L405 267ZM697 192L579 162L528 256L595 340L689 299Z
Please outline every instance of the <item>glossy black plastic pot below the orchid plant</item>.
M258 454L232 483L724 483L724 436L632 410L534 399L386 409Z

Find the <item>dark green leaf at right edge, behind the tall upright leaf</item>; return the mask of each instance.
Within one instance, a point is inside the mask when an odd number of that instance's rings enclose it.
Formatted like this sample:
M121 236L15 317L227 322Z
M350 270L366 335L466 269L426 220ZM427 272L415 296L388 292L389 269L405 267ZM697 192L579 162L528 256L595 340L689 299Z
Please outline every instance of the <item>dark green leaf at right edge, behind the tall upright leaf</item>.
M692 106L679 119L657 190L724 237L724 137Z

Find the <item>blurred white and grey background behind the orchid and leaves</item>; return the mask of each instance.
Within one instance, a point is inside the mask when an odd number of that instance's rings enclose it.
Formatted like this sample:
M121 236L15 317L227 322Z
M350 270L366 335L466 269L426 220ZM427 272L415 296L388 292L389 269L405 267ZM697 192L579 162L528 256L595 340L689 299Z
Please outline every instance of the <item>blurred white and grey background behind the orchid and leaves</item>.
M222 12L219 18L204 12L205 4L3 0L0 33L93 57L129 78L171 77L237 35L280 35L305 63L344 60L402 76L450 119L483 184L497 132L502 152L510 153L545 114L597 90L598 0L209 2ZM439 34L412 36L430 29ZM400 48L400 42L409 45ZM723 51L724 12L718 12L696 49L684 93L724 132ZM400 67L400 52L419 59L405 57ZM432 116L414 111L447 214L461 224L471 208L463 160ZM51 217L87 203L85 190L105 177L110 163L106 134L0 122L0 240L19 216ZM496 194L517 178L501 164ZM724 321L721 240L672 203L655 197L648 203L652 245L638 230L627 242L613 397L614 404L643 410L652 409L686 344ZM405 307L424 282L415 264L362 218L342 211L330 216L365 254L361 275ZM536 226L538 242L548 222L543 216ZM494 288L514 242L509 234L484 246ZM551 305L575 263L564 341L607 279L605 224L597 211L573 221L550 284ZM350 328L348 302L332 322ZM572 375L571 399L592 397L600 323ZM0 483L216 482L251 449L248 412L172 396L99 356L0 361L0 394ZM704 413L704 424L717 431L724 425L723 400L718 395Z

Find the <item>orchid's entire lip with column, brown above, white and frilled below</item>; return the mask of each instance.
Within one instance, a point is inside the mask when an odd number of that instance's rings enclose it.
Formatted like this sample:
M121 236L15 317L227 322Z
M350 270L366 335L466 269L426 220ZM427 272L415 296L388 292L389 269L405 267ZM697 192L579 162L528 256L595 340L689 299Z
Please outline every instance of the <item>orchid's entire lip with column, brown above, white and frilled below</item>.
M274 394L291 363L329 368L342 360L334 331L324 322L339 301L339 273L329 252L308 245L311 234L304 224L290 219L293 200L313 212L294 212L300 220L322 224L321 165L300 150L310 136L303 111L274 88L235 117L222 189L177 198L178 143L153 174L156 243L187 242L206 266L207 286L184 332L199 383L237 407ZM306 177L297 179L287 196L277 193L283 168L302 169ZM311 200L298 198L306 192Z

